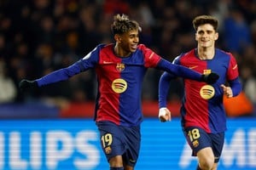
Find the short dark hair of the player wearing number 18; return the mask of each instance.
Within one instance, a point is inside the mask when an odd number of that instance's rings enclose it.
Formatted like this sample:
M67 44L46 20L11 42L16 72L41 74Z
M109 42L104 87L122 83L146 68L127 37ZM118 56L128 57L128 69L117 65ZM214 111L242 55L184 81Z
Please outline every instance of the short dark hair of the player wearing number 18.
M214 31L218 30L218 20L214 18L211 15L200 15L195 17L193 20L193 27L195 31L197 31L198 26L204 25L204 24L210 24L213 26Z

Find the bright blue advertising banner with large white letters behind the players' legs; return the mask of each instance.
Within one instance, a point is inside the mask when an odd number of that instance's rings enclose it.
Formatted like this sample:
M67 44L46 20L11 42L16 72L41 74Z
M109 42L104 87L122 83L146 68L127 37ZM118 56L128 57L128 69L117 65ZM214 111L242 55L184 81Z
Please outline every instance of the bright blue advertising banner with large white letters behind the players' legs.
M256 120L228 120L218 169L256 169ZM179 119L145 119L136 169L195 169ZM0 121L0 169L108 169L91 120Z

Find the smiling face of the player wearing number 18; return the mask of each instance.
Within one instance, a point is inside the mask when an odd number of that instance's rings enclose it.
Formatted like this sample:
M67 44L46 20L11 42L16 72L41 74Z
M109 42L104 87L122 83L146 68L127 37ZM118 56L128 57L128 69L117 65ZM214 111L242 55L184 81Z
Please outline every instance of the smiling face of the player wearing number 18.
M198 26L195 32L195 40L198 42L198 48L214 48L217 39L218 32L210 24Z

